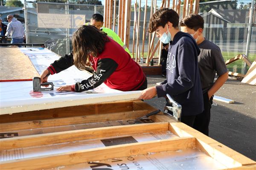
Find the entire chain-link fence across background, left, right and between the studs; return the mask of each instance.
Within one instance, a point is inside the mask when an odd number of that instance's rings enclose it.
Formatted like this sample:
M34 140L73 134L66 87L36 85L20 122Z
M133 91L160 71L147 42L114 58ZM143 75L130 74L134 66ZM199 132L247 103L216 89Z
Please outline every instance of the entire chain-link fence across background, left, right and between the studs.
M251 33L248 34L251 3L252 0L221 0L200 3L199 5L199 14L205 21L204 36L220 47L225 60L235 57L237 54L247 54L251 62L256 58L256 5L253 8ZM104 6L96 5L26 1L25 5L27 9L25 10L27 41L29 43L46 43L50 50L61 56L72 50L70 37L79 24L90 22L94 13L104 14ZM143 40L143 6L144 4L140 9L140 49L142 49ZM116 6L116 11L118 11L118 6ZM183 5L181 5L180 11L183 11ZM182 12L180 16L182 16ZM150 7L148 7L146 14L144 56L147 55L148 51L147 26L149 19ZM118 12L116 12L115 21L117 25ZM133 51L133 30L134 9L131 11L129 44L131 52ZM115 32L117 33L117 26ZM248 35L250 41L247 41ZM140 52L142 53L142 51ZM227 65L227 67L229 71L243 74L246 72L244 62L241 60Z

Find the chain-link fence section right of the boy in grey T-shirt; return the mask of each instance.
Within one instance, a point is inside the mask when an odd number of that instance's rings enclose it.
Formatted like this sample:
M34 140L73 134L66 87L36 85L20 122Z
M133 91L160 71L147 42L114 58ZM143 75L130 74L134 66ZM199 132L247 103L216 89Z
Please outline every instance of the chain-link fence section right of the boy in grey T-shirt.
M255 0L254 0L255 2ZM217 44L225 60L237 54L256 59L256 6L254 3L251 33L248 34L252 0L224 0L200 3L199 14L204 18L204 36ZM248 36L250 39L248 41ZM245 74L244 62L238 60L227 65L229 71Z

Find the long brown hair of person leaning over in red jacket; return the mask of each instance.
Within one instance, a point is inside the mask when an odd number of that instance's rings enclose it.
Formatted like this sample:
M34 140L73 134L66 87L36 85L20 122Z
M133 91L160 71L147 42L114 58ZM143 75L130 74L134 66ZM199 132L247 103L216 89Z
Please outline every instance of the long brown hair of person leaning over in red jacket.
M107 34L99 31L94 26L81 26L73 34L73 59L74 65L79 70L85 70L87 58L90 55L98 57L109 42Z

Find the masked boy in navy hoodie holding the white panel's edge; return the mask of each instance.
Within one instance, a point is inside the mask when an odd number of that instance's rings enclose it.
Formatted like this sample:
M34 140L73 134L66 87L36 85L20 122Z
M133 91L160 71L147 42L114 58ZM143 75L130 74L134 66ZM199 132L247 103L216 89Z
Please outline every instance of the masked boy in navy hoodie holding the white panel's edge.
M172 9L162 8L150 19L149 32L156 32L163 43L169 43L166 81L142 91L140 99L166 94L182 106L181 122L193 127L195 117L204 110L198 69L200 50L191 35L179 31L179 16Z

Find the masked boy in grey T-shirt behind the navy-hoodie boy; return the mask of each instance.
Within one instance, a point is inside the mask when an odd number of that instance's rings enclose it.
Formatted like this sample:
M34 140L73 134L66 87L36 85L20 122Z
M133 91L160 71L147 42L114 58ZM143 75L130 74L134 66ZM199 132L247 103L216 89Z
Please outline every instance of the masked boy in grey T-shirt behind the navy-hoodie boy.
M180 21L181 31L190 34L198 44L198 66L204 96L204 111L195 118L194 129L209 135L210 109L213 94L226 82L228 70L220 48L204 38L204 19L198 14L189 14ZM217 80L214 82L215 74Z

